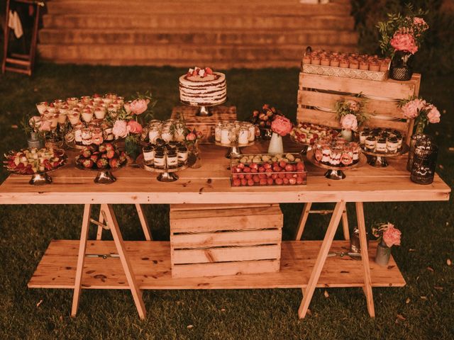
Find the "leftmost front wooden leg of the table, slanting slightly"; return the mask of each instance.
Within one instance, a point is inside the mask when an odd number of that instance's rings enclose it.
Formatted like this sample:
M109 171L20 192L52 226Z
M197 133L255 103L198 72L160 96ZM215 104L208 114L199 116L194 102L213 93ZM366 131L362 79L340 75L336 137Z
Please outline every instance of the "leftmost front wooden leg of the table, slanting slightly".
M84 205L84 217L82 218L82 229L79 240L79 253L77 254L76 277L74 279L74 295L72 296L71 316L75 317L79 308L79 297L82 289L82 271L84 270L85 249L87 249L87 239L90 225L90 215L92 205Z

